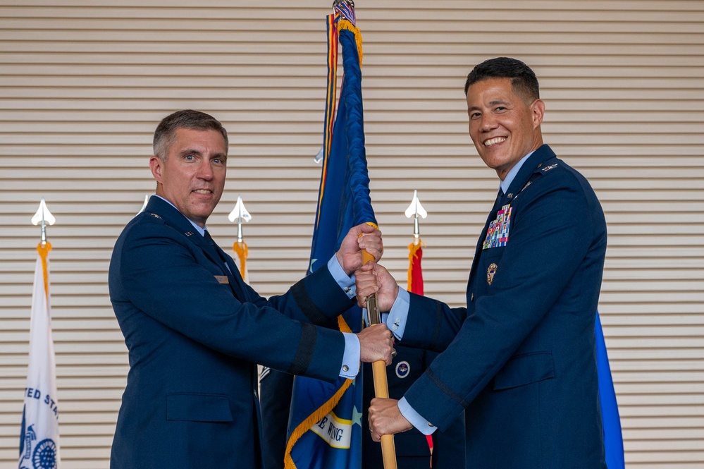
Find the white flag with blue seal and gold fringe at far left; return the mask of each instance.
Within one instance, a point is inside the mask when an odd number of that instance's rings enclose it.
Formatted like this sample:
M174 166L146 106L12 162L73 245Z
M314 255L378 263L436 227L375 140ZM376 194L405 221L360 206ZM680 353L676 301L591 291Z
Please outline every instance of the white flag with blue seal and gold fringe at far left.
M20 433L19 469L58 469L56 365L49 307L49 250L40 243L32 293L30 360Z

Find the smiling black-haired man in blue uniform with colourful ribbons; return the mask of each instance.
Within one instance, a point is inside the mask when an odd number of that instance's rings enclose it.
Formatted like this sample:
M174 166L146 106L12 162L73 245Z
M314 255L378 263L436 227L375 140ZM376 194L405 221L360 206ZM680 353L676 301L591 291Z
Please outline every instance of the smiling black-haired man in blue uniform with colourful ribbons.
M378 264L357 272L358 303L378 290L401 344L442 352L399 401L371 401L372 439L445 430L466 410L467 467L605 469L594 334L603 209L543 144L531 68L484 61L464 92L469 135L498 174L499 195L476 245L467 307L407 293Z

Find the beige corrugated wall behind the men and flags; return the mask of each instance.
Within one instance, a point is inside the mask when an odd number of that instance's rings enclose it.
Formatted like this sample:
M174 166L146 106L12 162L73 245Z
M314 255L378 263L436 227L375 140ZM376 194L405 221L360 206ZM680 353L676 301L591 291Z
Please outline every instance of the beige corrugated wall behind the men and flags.
M45 197L64 469L108 467L128 370L106 271L153 193L156 123L194 108L230 130L223 247L241 194L249 274L280 293L307 267L331 1L0 0L0 463L14 467ZM404 7L404 8L402 8ZM609 224L600 313L629 468L704 465L704 2L357 1L371 188L385 264L405 279L413 194L426 293L464 302L498 186L462 87L491 56L541 78L546 142ZM341 68L341 65L340 65Z

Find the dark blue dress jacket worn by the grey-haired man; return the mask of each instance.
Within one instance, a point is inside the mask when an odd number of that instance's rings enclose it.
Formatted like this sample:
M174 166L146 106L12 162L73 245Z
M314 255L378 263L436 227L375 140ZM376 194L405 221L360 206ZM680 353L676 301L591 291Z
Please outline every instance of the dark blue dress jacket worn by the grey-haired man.
M112 469L259 468L254 360L331 382L340 373L342 333L308 324L354 303L328 269L262 298L159 197L118 238L109 288L130 360Z

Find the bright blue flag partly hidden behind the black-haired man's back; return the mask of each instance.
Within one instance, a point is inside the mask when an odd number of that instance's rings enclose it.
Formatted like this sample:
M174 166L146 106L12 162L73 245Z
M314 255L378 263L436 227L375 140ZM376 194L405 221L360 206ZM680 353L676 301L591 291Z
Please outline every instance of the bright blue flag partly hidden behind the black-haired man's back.
M619 407L616 403L616 391L611 378L609 357L606 354L604 332L601 329L599 312L596 312L596 372L599 378L599 399L601 404L601 421L604 427L604 448L606 465L609 469L624 469L624 440L621 434Z

